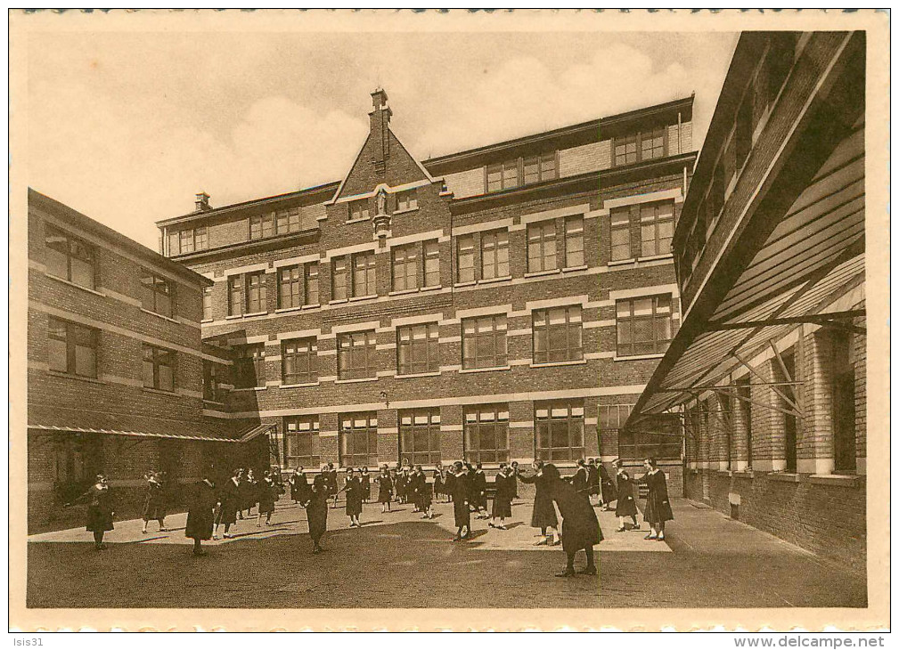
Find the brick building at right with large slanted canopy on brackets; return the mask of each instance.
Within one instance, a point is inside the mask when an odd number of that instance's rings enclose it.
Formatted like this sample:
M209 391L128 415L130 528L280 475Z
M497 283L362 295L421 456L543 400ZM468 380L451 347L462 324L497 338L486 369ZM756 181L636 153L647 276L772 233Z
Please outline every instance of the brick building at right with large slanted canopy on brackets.
M864 32L747 32L673 248L684 312L628 428L680 412L684 492L866 561Z

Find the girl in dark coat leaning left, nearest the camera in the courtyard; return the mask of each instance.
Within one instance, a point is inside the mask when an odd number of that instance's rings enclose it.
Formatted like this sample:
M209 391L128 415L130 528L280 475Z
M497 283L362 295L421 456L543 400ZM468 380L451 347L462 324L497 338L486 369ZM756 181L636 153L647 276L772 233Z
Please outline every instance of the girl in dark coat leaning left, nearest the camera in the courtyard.
M562 480L555 465L545 465L543 476L546 489L562 515L562 548L565 550L567 562L565 571L556 576L568 578L574 575L574 556L582 548L587 555L587 565L577 573L596 575L593 547L602 541L602 531L590 499L578 494L574 485Z

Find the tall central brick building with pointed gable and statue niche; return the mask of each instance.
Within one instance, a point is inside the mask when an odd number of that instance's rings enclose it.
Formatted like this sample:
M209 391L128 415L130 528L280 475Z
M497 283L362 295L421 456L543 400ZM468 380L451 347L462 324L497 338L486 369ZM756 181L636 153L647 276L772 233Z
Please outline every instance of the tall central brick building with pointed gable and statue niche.
M205 413L271 424L282 467L651 453L679 479L679 437L617 431L679 325L692 98L423 162L372 100L341 182L158 222L234 360Z

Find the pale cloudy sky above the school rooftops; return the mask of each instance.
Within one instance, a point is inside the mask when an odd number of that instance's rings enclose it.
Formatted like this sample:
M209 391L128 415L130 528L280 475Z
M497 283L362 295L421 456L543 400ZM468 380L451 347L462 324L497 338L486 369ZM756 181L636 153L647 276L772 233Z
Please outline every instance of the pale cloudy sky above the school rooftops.
M737 38L31 33L28 184L156 249L155 221L190 212L196 192L218 207L341 180L378 86L421 160L694 92L699 149Z

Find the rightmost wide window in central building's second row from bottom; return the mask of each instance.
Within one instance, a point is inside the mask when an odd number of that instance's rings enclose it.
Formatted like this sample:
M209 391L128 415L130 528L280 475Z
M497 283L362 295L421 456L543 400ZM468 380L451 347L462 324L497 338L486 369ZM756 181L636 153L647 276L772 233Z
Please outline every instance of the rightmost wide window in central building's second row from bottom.
M672 340L671 295L616 302L618 355L657 354Z

